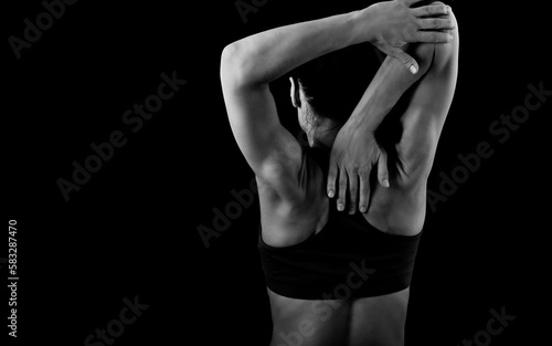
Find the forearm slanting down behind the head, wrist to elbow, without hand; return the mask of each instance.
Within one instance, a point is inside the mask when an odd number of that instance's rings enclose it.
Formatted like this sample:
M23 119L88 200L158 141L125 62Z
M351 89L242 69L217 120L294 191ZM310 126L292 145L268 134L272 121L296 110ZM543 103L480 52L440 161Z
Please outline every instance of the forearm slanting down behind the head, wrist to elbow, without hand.
M401 96L427 72L434 49L434 44L417 44L415 50L408 51L418 61L417 74L410 73L396 59L388 56L349 122L354 124L354 127L374 132Z

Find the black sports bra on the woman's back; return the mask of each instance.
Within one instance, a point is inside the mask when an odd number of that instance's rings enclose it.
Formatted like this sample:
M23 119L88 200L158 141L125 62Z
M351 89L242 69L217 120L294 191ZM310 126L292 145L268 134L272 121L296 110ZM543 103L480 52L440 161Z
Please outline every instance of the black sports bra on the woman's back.
M410 286L421 233L394 235L359 212L336 210L301 243L274 248L259 235L265 282L279 295L300 300L348 300L384 295Z

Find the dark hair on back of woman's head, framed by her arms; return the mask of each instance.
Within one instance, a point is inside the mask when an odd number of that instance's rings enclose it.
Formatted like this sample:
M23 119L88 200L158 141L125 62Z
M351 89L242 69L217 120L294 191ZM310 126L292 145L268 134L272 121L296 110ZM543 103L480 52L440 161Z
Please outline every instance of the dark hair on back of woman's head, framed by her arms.
M357 44L317 57L290 76L299 81L316 116L341 127L372 80L375 56L368 44Z

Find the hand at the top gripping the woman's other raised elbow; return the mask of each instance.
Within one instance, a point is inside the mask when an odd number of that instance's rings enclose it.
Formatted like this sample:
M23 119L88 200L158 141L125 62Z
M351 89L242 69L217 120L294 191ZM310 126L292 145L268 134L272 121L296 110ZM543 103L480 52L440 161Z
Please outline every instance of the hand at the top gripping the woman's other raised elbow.
M449 30L454 21L447 17L452 9L443 2L411 8L422 0L393 0L378 2L361 11L363 33L383 53L397 59L413 74L417 62L401 48L407 43L446 43L453 40ZM442 18L444 17L444 18Z

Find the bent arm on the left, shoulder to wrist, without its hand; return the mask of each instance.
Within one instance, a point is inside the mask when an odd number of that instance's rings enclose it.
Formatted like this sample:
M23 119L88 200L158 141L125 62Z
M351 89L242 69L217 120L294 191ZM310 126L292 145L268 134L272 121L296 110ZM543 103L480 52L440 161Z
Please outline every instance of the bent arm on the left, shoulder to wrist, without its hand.
M258 179L293 198L300 146L279 123L268 84L325 53L362 42L359 13L266 31L224 49L221 80L234 137Z

